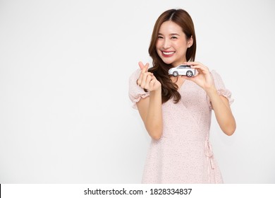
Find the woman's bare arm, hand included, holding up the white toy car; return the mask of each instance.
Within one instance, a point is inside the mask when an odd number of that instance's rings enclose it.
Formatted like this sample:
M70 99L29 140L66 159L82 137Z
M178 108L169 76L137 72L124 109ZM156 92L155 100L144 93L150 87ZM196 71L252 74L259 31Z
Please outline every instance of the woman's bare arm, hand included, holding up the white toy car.
M186 62L185 64L197 69L199 74L194 77L183 76L183 78L194 81L198 86L202 87L204 91L206 91L212 103L219 127L221 127L221 130L225 134L231 136L236 130L236 121L231 112L228 99L222 95L219 95L216 91L216 87L209 69L207 66L204 66L199 62Z

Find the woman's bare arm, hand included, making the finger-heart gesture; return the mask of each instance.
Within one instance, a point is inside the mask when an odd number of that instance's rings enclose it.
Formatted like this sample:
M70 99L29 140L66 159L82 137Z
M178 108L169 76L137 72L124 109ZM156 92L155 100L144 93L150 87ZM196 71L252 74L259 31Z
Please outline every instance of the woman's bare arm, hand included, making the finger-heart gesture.
M161 83L147 71L149 64L144 66L139 62L139 65L142 71L137 81L138 86L147 89L150 95L140 99L137 103L138 111L149 136L152 139L160 139L162 134Z

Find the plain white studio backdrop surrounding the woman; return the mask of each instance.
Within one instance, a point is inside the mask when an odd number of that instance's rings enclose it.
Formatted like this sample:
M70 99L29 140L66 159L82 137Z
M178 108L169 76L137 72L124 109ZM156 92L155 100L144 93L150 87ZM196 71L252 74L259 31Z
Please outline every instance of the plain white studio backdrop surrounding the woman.
M140 183L150 139L128 78L170 8L235 99L236 133L214 116L210 133L224 182L275 183L271 0L0 0L0 183Z

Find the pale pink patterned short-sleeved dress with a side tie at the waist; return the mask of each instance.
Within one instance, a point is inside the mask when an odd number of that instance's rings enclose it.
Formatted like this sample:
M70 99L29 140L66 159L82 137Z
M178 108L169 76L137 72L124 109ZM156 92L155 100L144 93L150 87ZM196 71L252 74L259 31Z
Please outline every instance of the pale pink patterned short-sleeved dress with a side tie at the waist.
M212 71L216 90L231 99L221 77ZM140 69L129 81L129 97L133 107L140 98L149 96L136 81ZM209 143L212 105L206 92L193 81L185 81L178 90L181 100L162 105L163 132L152 139L147 153L142 183L223 183L219 167Z

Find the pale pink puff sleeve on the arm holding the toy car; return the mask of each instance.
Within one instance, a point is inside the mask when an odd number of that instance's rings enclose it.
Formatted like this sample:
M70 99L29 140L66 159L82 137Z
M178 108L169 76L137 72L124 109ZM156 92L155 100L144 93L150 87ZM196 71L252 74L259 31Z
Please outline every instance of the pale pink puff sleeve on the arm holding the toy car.
M212 70L211 71L212 77L214 79L214 84L216 87L216 91L218 92L219 95L223 95L225 98L228 99L229 105L231 105L234 101L233 98L231 98L231 91L229 91L225 86L224 86L224 81L221 79L221 76L216 73L216 71ZM210 99L207 96L208 104L211 109L212 104L210 102Z

